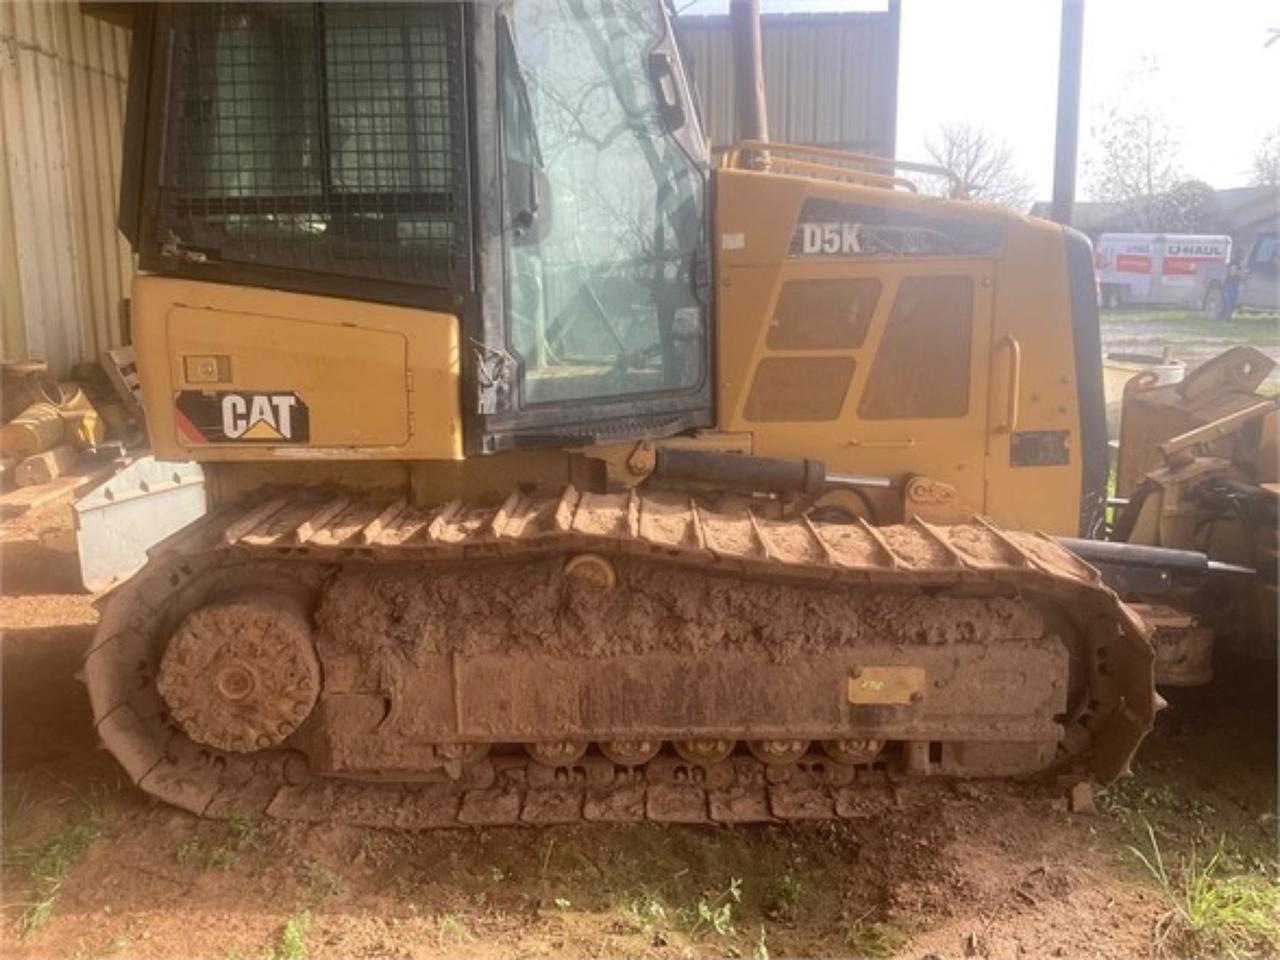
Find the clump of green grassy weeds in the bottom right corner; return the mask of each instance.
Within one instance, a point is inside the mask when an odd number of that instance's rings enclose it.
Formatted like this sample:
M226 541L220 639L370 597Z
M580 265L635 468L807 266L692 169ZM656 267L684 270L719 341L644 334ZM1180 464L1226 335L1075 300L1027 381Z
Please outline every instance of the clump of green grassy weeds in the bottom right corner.
M1129 851L1147 868L1169 909L1156 920L1157 950L1176 945L1180 952L1204 956L1274 956L1280 950L1280 886L1267 877L1228 873L1224 841L1208 859L1193 846L1170 870L1146 822L1148 850Z

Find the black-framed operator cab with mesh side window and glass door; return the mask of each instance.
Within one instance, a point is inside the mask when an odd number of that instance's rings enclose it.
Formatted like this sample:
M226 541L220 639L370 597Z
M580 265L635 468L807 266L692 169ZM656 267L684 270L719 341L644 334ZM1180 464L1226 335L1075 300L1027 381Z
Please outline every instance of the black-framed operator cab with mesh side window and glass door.
M712 424L710 161L660 0L173 4L134 36L145 270L456 315L467 453Z

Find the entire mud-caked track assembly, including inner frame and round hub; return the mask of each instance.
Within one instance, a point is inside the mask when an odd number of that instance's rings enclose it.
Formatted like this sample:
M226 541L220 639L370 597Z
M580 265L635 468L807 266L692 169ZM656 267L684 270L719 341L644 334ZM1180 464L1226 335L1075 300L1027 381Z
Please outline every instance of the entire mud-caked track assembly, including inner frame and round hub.
M86 675L104 742L168 803L402 827L1110 782L1156 709L1142 622L1048 538L572 488L221 508L108 598Z

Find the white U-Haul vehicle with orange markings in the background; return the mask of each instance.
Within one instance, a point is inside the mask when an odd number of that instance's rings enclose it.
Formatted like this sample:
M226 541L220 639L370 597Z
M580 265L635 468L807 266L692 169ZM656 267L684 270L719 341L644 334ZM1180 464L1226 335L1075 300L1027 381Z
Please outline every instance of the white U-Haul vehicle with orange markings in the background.
M1190 233L1103 233L1093 248L1098 300L1125 303L1193 305L1203 264L1226 264L1231 238Z

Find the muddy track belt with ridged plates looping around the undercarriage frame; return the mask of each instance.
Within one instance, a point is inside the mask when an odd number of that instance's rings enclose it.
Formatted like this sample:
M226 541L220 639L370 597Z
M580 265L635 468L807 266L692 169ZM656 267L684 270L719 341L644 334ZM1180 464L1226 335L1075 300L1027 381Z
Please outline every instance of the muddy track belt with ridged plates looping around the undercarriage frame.
M690 582L750 581L778 595L803 590L863 604L928 598L943 611L966 603L1052 607L1071 621L1087 662L1085 690L1064 718L1052 767L1108 782L1151 727L1156 699L1144 626L1091 567L1048 538L980 521L890 527L773 521L717 513L678 494L570 488L558 498L513 494L498 508L287 490L212 512L157 547L147 567L105 599L86 660L99 735L142 790L202 815L402 827L746 822L854 817L892 797L901 764L835 763L815 750L782 765L745 755L690 763L666 754L635 765L594 754L547 765L499 746L465 764L444 764L443 773L402 771L383 778L390 782L321 777L303 749L311 721L266 749L216 749L183 732L157 689L170 637L192 611L228 589L268 585L310 604L323 596L321 618L346 616L343 643L358 645L361 577L399 571L413 580L416 571L421 581L424 570L536 577L539 564L559 570L584 554L604 559L596 571L639 564ZM509 576L513 584L516 575ZM502 589L503 580L490 582ZM355 599L335 605L330 598L342 589ZM396 616L402 618L399 608ZM372 614L365 622L380 623Z

